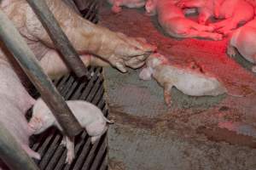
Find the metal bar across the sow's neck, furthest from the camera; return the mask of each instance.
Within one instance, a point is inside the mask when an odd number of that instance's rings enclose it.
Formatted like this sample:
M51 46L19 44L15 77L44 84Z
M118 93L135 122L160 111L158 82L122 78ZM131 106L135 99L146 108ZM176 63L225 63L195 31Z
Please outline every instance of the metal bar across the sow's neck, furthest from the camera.
M55 43L63 56L67 66L76 74L77 77L87 77L90 79L90 74L85 67L83 61L79 58L79 54L69 42L65 33L61 30L54 15L50 12L44 0L26 0L30 4L38 19L41 21L49 37Z

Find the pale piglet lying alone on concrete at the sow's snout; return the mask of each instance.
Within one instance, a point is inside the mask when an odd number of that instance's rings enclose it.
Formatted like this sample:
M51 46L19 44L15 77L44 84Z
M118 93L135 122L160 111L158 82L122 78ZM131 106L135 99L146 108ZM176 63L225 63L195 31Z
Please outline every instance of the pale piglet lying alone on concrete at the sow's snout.
M204 73L198 65L195 65L195 68L179 68L170 65L166 57L161 54L151 54L146 63L147 67L141 71L139 77L149 80L152 75L164 88L164 97L169 106L172 87L191 96L217 96L227 92L217 78Z

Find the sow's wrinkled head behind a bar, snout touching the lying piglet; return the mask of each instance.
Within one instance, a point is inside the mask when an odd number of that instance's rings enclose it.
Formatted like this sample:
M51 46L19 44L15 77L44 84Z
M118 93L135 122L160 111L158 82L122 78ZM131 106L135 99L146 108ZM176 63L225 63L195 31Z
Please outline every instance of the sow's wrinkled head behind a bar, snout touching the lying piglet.
M155 50L155 47L148 43L134 41L132 37L119 37L114 31L84 20L61 0L46 0L46 3L79 54L96 54L119 71L126 72L125 66L134 67L133 62L128 62L130 59L138 58ZM26 25L27 32L47 47L55 48L32 9L26 9L24 25ZM143 65L144 61L141 60L140 63Z

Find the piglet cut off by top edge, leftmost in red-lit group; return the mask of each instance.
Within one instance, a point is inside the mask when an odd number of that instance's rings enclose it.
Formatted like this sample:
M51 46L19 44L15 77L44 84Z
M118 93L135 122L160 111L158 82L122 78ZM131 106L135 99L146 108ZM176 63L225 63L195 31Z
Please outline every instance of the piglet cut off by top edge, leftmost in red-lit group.
M145 5L145 0L108 0L108 3L112 4L112 11L114 13L119 13L123 7L128 8L141 8Z

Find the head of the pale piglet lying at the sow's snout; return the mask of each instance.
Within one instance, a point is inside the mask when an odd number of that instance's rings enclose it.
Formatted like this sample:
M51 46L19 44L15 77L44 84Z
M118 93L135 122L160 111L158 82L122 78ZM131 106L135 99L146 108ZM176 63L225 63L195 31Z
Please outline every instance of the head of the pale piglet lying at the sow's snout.
M147 67L143 68L143 71L140 72L139 77L143 80L150 80L154 72L154 68L158 65L165 64L167 59L164 55L161 54L150 54L146 61Z

